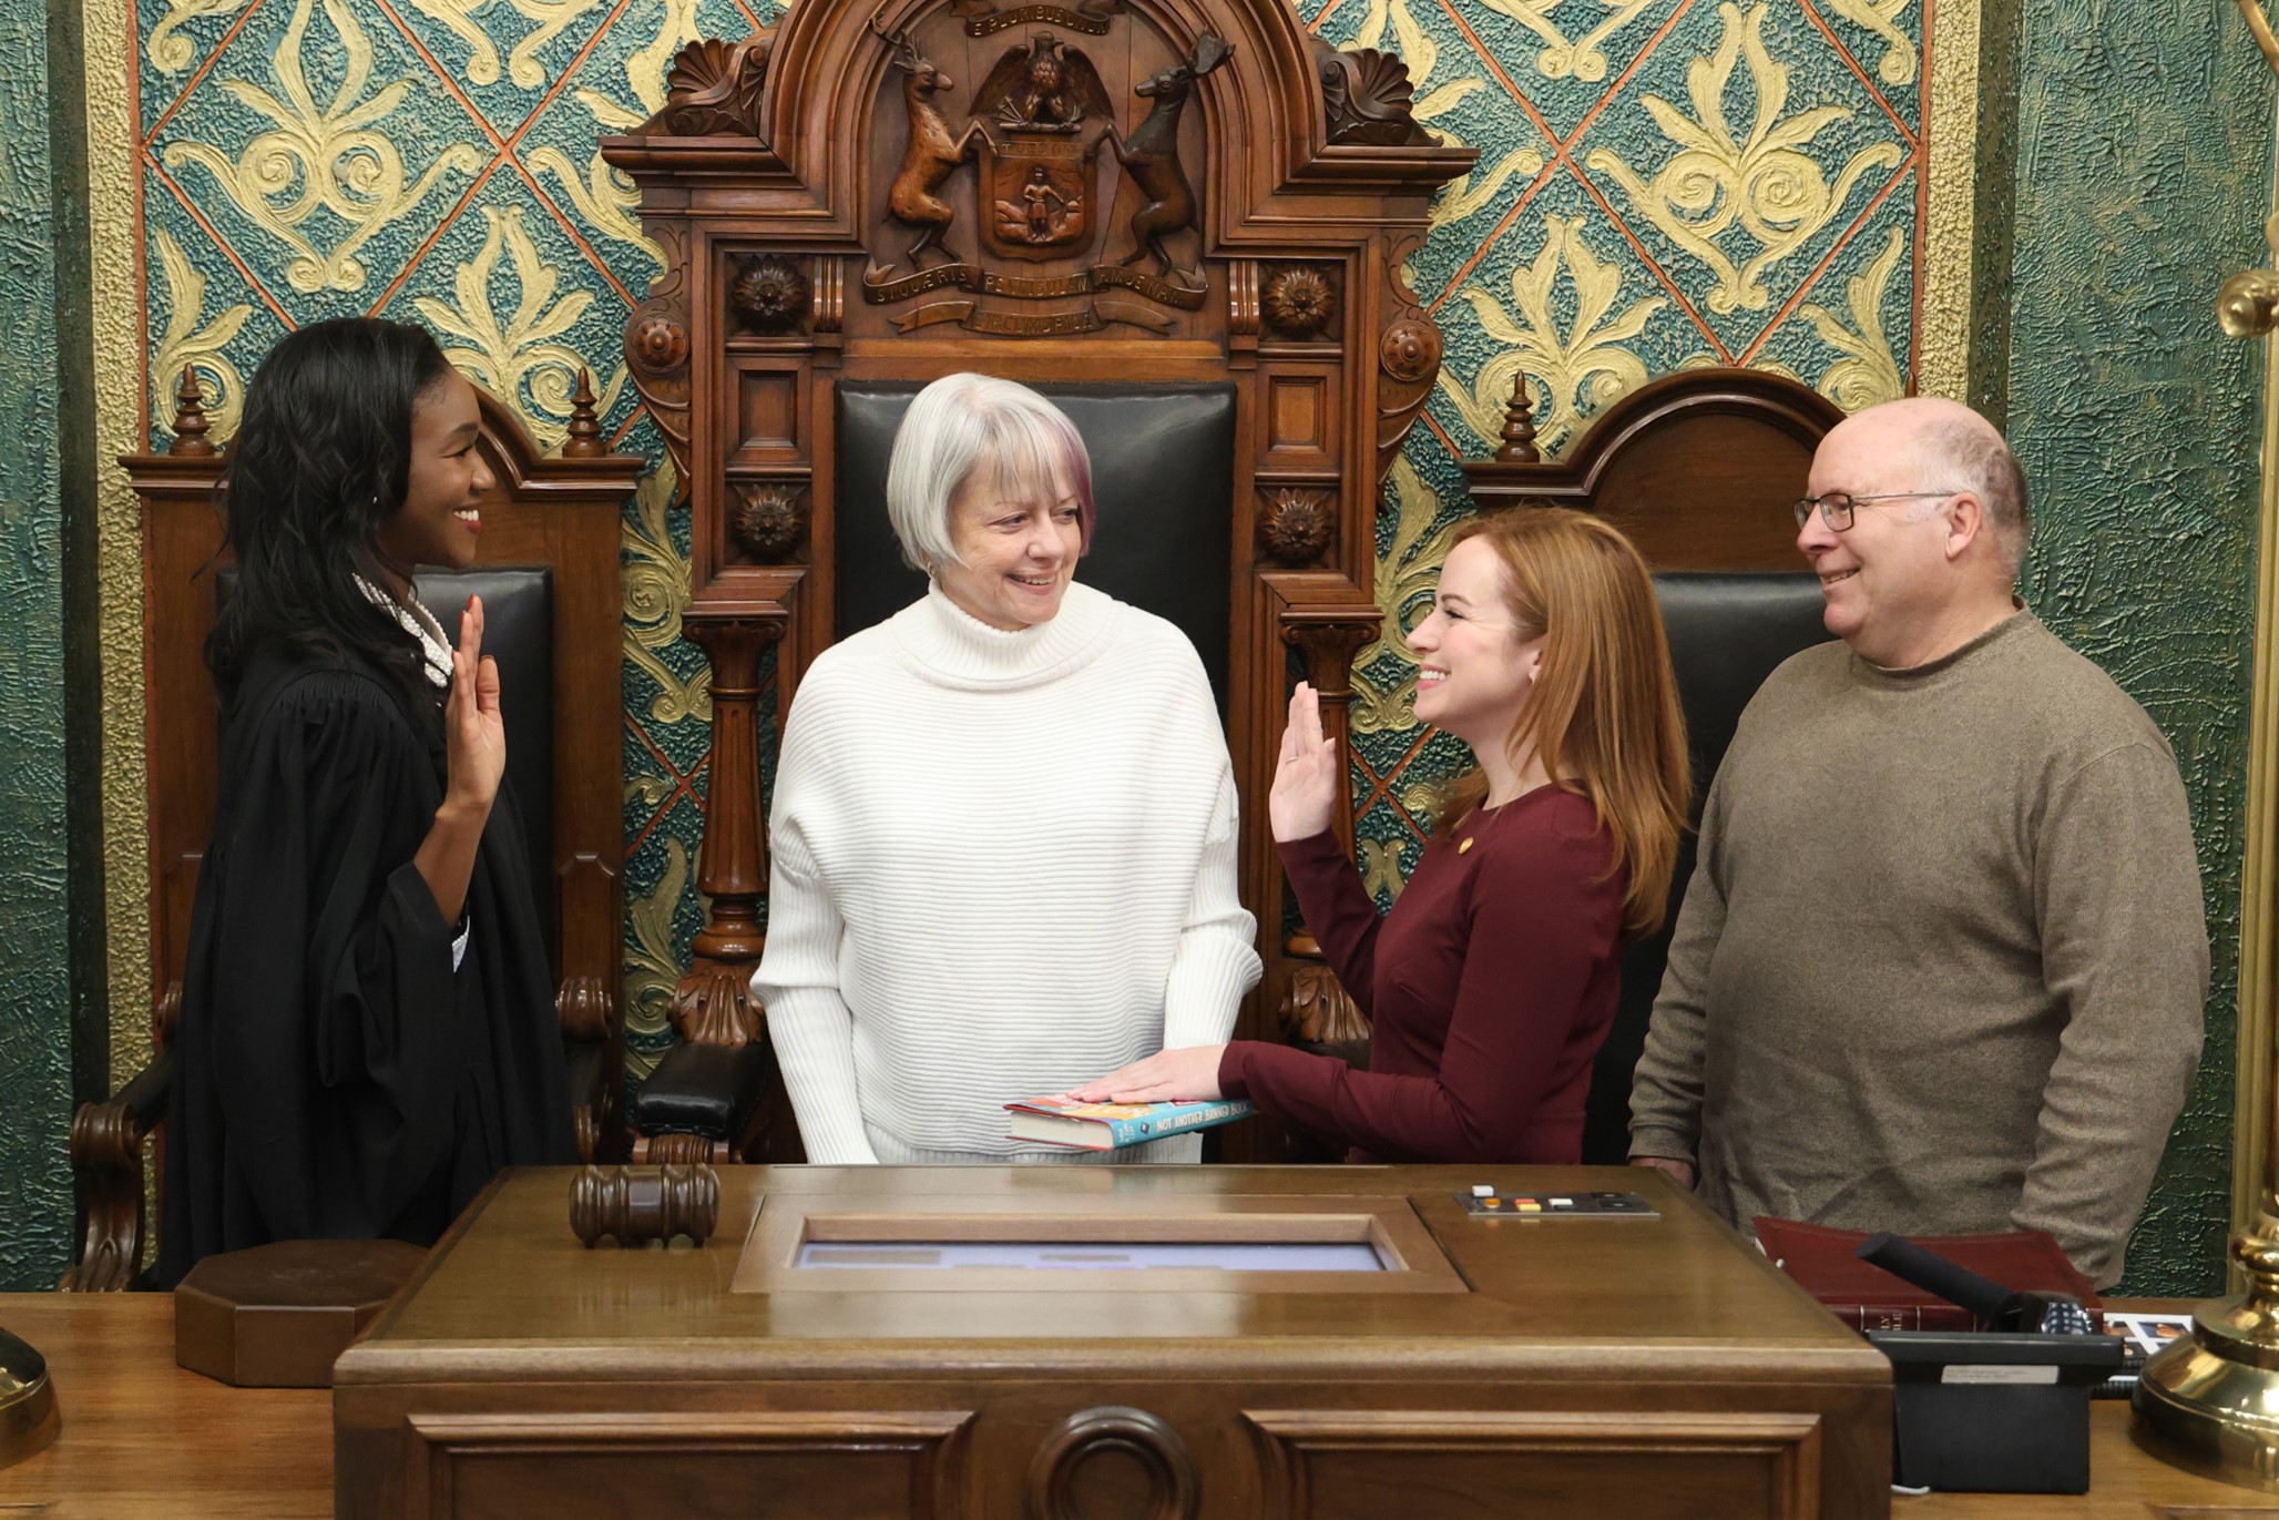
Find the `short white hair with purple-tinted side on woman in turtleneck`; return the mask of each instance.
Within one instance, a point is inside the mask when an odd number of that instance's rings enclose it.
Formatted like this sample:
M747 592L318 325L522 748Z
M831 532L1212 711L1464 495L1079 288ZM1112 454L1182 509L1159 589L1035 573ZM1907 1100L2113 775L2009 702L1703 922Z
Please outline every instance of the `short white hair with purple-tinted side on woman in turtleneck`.
M1053 492L1067 474L1083 515L1083 547L1092 549L1092 456L1067 412L1028 385L987 374L948 374L909 403L887 460L887 520L902 545L902 563L925 570L955 561L950 506L982 465L996 469L1007 499Z

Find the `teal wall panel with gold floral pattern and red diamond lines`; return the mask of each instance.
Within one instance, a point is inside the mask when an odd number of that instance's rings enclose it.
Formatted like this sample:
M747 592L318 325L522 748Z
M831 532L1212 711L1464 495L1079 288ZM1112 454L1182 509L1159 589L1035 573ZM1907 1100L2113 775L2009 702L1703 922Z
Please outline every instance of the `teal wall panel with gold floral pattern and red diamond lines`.
M219 431L287 330L383 314L554 442L590 367L615 447L663 460L627 385L627 312L661 269L597 153L663 103L695 36L775 0L139 0L132 221L148 319L139 417L173 376ZM1481 150L1408 278L1447 335L1379 513L1386 636L1358 661L1361 859L1379 898L1461 763L1415 727L1404 629L1525 376L1545 447L1648 376L1778 367L1848 408L1919 360L1930 36L1919 0L1301 0L1340 46L1397 50L1415 114ZM702 923L711 702L681 636L688 520L661 465L624 506L627 1012L636 1064ZM119 884L114 891L137 891Z

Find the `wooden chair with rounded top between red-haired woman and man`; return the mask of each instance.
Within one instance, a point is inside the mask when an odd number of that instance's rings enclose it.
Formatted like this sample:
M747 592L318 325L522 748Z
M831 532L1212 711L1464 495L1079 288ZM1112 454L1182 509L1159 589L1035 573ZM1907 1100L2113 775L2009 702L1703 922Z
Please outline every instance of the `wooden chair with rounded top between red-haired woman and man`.
M1759 369L1689 369L1623 397L1557 460L1534 447L1516 392L1495 458L1465 465L1481 508L1575 506L1600 513L1655 570L1677 697L1693 750L1693 816L1741 709L1773 668L1830 638L1821 586L1796 551L1789 504L1805 495L1812 451L1844 419L1819 392ZM1680 845L1661 930L1623 955L1623 998L1600 1046L1584 1114L1584 1160L1629 1155L1629 1078L1677 909L1693 875L1693 834Z

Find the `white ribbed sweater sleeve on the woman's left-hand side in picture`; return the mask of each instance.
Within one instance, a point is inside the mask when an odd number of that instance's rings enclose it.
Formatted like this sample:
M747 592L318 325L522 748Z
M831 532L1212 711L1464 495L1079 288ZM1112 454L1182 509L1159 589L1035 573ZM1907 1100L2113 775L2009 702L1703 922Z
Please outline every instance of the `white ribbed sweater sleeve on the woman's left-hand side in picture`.
M784 754L791 763L791 747ZM802 761L804 763L804 761ZM782 782L779 782L782 784ZM798 777L793 777L798 784ZM877 1162L855 1092L855 1016L839 996L846 925L816 875L798 825L773 830L768 871L768 1037L800 1119L807 1160L825 1167ZM752 978L754 991L759 975Z

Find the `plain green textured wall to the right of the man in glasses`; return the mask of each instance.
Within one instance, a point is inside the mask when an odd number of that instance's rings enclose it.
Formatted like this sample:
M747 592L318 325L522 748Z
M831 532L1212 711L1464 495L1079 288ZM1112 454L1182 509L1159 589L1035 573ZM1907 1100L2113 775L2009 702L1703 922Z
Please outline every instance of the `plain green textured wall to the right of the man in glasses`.
M2199 1082L2129 1249L2135 1292L2222 1281L2261 346L2215 285L2268 267L2272 77L2229 5L2031 5L2017 36L2001 383L2040 492L2026 595L2154 716L2192 798L2213 980ZM1992 346L1992 344L1990 344ZM2265 545L2265 554L2270 545ZM2270 631L2265 631L2270 640Z

